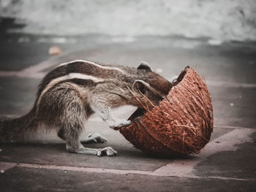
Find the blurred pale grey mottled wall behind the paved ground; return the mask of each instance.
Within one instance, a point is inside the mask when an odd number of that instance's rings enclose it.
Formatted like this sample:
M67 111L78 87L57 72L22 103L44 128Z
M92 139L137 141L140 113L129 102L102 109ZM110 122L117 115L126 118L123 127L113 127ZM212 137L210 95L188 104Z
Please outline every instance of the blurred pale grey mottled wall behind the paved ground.
M255 0L1 0L0 12L26 34L256 39Z

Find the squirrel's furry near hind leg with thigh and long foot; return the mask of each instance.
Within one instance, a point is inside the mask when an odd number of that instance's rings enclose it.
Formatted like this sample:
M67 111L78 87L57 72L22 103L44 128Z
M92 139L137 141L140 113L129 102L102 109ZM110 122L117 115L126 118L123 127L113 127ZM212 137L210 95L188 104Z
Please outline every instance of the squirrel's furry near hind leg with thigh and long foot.
M45 101L44 101L45 100ZM80 143L80 134L83 132L84 124L89 116L86 106L80 98L80 94L68 85L62 85L45 93L41 99L42 107L39 112L45 116L45 120L59 127L58 136L66 142L67 151L88 155L117 155L112 147L86 148Z

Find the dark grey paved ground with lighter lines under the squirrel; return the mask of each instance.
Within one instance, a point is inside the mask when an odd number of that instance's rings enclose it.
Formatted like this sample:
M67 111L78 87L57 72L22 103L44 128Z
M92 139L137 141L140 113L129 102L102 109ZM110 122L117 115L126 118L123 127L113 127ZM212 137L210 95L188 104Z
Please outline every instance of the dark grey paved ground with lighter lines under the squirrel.
M85 134L99 132L108 142L87 147L111 146L118 151L117 157L67 153L55 133L39 133L36 142L1 143L1 191L256 190L255 43L209 45L207 39L181 37L1 34L1 117L28 112L45 72L73 59L128 66L148 61L168 79L189 65L208 83L214 106L211 141L198 155L184 158L142 153L97 116L89 120ZM51 45L61 47L63 53L48 55ZM113 113L127 118L133 110L122 107Z

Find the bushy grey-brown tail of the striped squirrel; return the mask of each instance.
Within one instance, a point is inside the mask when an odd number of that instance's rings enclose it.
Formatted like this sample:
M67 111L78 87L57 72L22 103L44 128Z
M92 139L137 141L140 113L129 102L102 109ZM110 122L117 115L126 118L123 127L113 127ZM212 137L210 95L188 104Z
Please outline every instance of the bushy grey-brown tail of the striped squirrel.
M23 141L24 134L33 128L35 109L20 118L0 120L0 142Z

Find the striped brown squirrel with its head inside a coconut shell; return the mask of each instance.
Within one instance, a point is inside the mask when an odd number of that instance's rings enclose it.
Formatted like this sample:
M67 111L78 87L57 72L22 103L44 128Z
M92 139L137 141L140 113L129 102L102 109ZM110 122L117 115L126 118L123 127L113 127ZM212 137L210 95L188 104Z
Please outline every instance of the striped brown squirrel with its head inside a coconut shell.
M23 141L26 131L54 128L70 153L115 156L117 152L112 147L95 149L82 145L80 134L86 120L95 112L110 128L129 126L130 120L110 115L110 107L124 104L142 107L149 101L159 104L173 82L153 72L146 62L137 68L83 60L60 64L42 79L34 106L26 115L0 121L0 141ZM96 133L83 142L91 141L106 139Z

